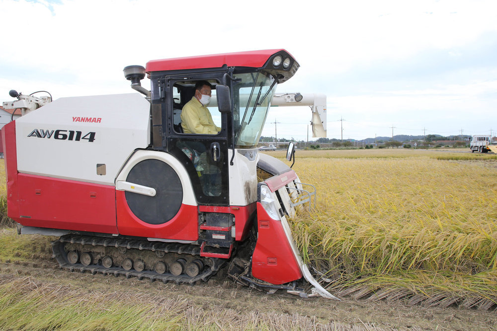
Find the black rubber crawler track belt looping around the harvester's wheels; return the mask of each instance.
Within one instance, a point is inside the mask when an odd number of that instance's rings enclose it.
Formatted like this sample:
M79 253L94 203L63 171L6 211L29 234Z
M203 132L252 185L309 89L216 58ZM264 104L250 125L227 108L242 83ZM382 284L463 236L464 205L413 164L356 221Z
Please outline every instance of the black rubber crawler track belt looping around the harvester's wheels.
M212 266L205 267L204 270L195 277L190 277L185 274L175 276L170 273L160 274L155 271L144 270L125 270L122 267L110 267L106 268L102 265L82 265L80 263L71 264L67 259L67 252L64 249L66 243L71 244L81 244L81 245L92 245L92 246L103 246L103 247L124 247L126 249L138 249L138 250L148 250L148 251L163 251L167 253L177 253L177 254L188 254L194 256L200 256L200 247L194 245L185 245L178 243L162 243L162 242L149 242L141 240L129 240L120 238L104 238L104 237L90 237L90 236L80 236L80 235L67 235L61 237L59 240L52 242L52 250L54 253L54 258L59 262L61 268L70 271L89 271L91 274L103 273L103 274L113 274L114 276L124 275L126 278L137 277L141 279L150 279L151 281L162 280L163 282L174 281L176 283L188 283L192 284L196 281L202 280L207 281L212 275L214 275L221 267L226 264L226 260L217 258L207 258L212 261Z

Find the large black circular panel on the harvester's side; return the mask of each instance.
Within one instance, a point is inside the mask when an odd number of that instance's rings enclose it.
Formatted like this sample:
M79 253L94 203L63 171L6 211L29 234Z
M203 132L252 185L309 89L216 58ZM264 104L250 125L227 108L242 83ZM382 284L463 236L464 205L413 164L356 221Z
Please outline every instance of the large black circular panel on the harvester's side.
M129 208L142 221L163 224L179 211L183 187L178 175L167 163L155 159L141 161L131 169L126 181L156 190L155 197L125 193Z

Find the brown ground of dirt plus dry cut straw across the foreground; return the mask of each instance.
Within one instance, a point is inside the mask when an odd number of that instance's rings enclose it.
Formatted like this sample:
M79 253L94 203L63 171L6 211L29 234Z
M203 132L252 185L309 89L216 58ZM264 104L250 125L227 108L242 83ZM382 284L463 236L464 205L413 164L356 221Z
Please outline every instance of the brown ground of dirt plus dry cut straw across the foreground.
M61 270L46 248L36 250L22 262L1 261L0 284L26 286L26 293L31 288L40 291L58 287L64 289L64 293L77 293L82 301L108 294L113 294L108 300L123 304L136 298L150 302L178 300L187 307L185 309L195 312L188 315L194 321L181 326L182 330L199 326L219 330L254 329L253 321L261 319L271 330L489 330L497 325L495 312L428 309L399 301L301 299L281 291L268 295L234 284L225 278L224 272L194 286L74 273Z

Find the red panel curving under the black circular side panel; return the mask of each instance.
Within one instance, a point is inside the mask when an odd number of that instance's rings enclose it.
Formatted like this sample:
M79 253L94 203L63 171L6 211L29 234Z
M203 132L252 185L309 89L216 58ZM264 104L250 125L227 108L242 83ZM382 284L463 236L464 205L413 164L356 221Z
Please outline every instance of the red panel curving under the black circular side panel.
M165 224L149 224L131 211L124 191L116 191L117 227L127 236L195 241L198 239L197 206L182 204L178 213Z

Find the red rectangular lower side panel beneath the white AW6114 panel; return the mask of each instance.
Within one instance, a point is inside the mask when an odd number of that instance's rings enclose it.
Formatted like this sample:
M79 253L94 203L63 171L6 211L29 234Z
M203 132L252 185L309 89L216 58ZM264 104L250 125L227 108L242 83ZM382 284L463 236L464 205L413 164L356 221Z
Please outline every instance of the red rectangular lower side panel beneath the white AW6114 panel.
M113 186L28 174L17 183L22 225L117 233Z

